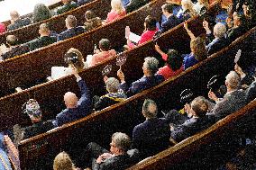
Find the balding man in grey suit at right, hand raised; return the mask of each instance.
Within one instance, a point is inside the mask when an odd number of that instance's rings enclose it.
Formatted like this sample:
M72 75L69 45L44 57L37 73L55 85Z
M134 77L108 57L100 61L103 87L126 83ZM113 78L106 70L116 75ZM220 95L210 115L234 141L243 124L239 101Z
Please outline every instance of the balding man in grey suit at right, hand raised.
M224 94L223 99L219 99L210 91L208 97L215 101L215 106L210 112L210 115L215 116L215 121L223 119L230 113L236 112L246 104L245 93L240 90L241 77L235 72L231 71L225 77L225 85L227 93Z

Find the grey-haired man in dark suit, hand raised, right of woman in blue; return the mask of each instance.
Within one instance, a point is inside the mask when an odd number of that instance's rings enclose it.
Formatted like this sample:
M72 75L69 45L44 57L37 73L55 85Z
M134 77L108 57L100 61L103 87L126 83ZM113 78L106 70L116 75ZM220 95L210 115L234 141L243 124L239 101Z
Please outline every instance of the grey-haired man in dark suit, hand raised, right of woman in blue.
M206 38L208 42L206 49L208 55L214 54L227 45L227 40L225 39L226 27L223 23L217 22L215 24L214 33L209 29L208 22L204 21L203 26L206 30Z

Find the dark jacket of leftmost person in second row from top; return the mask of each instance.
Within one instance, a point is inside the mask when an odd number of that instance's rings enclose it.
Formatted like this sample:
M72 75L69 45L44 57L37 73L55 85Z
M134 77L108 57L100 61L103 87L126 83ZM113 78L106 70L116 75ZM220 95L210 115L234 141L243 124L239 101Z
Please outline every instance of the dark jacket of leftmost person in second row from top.
M29 51L30 51L30 49L27 45L19 45L19 46L13 47L12 49L6 51L4 54L1 55L1 57L3 59L14 58L15 56L22 55Z

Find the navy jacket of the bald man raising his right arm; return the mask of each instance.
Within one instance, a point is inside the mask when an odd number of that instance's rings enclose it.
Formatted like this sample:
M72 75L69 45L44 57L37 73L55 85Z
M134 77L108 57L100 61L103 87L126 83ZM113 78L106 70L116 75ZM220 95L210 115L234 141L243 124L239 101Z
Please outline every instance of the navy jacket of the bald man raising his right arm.
M54 126L61 126L70 121L76 121L87 116L92 111L92 101L89 94L89 89L84 80L79 80L78 85L81 91L81 98L78 101L78 107L65 109L57 114L56 119L52 121Z

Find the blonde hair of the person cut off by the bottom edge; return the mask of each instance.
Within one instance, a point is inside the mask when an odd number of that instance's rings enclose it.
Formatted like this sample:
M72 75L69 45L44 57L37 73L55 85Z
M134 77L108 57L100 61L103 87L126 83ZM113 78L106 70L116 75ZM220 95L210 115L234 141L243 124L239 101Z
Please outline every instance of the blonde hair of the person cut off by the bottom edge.
M75 166L66 152L60 152L54 158L53 170L75 170Z

